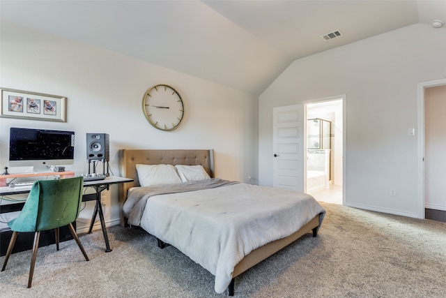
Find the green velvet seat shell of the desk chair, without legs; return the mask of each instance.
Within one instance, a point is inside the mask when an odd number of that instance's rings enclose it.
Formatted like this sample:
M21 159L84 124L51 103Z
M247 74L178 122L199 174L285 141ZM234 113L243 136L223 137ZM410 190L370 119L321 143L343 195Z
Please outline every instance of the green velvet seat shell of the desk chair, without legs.
M83 182L82 177L36 181L11 230L36 232L72 223L79 216Z

